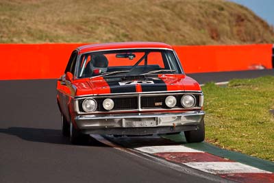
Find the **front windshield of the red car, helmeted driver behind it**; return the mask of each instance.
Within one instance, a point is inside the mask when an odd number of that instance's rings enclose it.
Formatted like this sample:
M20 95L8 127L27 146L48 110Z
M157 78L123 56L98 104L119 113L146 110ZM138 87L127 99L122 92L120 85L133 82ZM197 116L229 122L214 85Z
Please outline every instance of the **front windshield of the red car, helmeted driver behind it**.
M83 53L78 61L78 78L182 73L175 53L166 49L96 51Z

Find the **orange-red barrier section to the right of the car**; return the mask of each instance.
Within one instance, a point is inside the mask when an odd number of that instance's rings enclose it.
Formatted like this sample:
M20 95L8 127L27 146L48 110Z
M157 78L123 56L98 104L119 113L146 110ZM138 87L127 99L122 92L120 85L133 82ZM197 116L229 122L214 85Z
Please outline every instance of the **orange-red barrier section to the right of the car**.
M175 46L186 73L272 69L271 44Z

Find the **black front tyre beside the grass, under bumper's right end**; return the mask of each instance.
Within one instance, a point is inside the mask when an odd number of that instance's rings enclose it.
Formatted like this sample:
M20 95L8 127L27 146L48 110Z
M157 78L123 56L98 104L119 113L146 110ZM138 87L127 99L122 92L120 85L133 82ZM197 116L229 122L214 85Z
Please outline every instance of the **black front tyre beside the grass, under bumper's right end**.
M188 143L201 143L205 140L205 122L201 121L197 127L197 130L184 132Z

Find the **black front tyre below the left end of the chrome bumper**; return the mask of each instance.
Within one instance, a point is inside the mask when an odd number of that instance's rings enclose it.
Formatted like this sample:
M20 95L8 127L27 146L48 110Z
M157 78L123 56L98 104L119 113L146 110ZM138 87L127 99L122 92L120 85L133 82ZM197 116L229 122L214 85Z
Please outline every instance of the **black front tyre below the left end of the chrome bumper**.
M88 143L88 135L82 134L79 130L75 129L73 123L70 123L70 141L73 145L84 145Z

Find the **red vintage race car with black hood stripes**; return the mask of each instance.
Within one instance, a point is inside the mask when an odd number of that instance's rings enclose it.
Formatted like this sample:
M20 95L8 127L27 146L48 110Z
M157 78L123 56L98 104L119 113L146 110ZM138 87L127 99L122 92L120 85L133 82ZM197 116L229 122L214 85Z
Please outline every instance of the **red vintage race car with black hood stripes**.
M203 93L186 76L173 47L117 42L78 47L57 82L62 133L71 143L88 134L184 132L205 138Z

